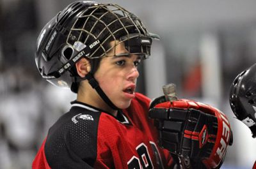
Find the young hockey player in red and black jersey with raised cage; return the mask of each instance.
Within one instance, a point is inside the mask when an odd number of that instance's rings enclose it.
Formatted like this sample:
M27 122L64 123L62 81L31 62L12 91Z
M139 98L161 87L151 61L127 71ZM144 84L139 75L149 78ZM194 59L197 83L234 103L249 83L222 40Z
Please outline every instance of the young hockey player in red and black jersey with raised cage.
M76 92L77 99L49 129L32 168L221 166L230 142L224 114L186 99L173 105L156 99L149 111L150 99L135 92L138 65L150 55L155 38L131 12L92 1L68 5L45 25L37 40L38 71L51 84ZM176 114L177 120L158 112ZM166 130L153 121L173 125ZM182 129L175 130L175 124ZM162 132L174 134L159 137ZM170 143L159 147L159 140Z

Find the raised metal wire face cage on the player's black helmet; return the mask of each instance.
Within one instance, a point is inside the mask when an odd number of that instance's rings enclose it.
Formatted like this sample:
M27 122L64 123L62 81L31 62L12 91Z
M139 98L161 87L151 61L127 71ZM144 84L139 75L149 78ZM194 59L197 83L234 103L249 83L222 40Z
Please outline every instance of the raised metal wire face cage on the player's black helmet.
M109 16L111 20L108 20ZM90 27L88 27L88 23L92 20L93 24L89 24ZM70 29L67 44L74 45L76 41L90 44L92 40L99 40L99 47L87 56L91 59L107 56L108 52L112 48L115 50L115 46L120 43L125 44L128 54L143 55L147 58L152 44L152 37L140 19L117 4L99 4L89 7L77 18ZM115 41L115 45L109 47L110 41Z

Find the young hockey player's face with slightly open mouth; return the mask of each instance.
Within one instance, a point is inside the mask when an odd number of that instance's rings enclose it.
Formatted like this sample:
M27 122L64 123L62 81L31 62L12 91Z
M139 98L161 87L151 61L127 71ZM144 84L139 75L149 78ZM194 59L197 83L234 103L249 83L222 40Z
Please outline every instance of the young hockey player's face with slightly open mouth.
M111 45L114 44L115 41L112 41ZM116 45L108 57L103 57L95 72L100 87L118 108L129 107L135 97L136 80L139 77L137 66L141 59L138 55L122 55L127 53L123 43Z

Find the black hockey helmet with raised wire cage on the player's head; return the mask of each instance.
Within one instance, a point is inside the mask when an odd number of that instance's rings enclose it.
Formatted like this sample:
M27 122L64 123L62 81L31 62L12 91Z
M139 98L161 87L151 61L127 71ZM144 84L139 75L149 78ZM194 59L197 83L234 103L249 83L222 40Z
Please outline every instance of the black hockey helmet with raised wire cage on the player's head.
M152 38L159 36L148 33L140 19L121 6L76 1L42 29L36 43L36 66L51 84L69 88L81 80L75 64L82 57L100 59L113 48L109 42L118 40L130 54L147 58Z

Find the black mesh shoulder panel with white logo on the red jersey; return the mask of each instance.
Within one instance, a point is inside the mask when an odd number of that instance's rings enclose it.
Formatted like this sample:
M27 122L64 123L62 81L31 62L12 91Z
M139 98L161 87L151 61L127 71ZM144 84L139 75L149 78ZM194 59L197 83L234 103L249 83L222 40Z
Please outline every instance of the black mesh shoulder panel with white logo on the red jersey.
M93 168L100 112L72 107L49 129L45 156L51 168Z

